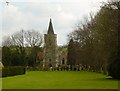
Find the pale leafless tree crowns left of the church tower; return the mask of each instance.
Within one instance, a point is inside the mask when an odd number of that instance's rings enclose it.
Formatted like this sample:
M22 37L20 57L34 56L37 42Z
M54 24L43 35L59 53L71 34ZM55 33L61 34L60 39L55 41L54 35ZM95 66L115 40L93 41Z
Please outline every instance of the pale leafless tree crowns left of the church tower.
M35 47L41 46L43 43L41 33L28 30L28 31L18 31L11 36L5 36L3 38L3 46L18 46L18 47Z

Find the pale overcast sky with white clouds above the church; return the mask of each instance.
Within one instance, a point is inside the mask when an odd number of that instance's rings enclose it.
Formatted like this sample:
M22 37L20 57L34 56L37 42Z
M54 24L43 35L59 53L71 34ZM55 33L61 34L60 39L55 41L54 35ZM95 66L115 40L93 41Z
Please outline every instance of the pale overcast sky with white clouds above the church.
M0 4L0 36L31 30L45 34L52 18L58 45L66 44L67 35L75 24L90 12L96 13L107 0L2 0ZM1 37L2 38L2 37ZM0 39L1 39L0 38ZM1 40L0 40L1 41Z

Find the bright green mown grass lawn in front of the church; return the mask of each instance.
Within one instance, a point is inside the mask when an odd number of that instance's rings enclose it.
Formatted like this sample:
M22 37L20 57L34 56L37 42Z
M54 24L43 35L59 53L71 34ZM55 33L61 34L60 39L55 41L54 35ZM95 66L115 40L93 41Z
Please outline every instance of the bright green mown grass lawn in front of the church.
M5 77L3 89L118 89L118 81L85 71L29 71Z

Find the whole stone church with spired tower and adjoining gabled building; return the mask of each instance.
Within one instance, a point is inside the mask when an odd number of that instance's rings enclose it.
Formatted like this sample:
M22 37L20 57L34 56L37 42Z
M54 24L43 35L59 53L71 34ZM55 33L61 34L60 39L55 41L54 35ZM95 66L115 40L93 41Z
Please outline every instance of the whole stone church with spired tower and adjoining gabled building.
M43 68L55 68L66 64L66 54L58 51L57 34L54 33L52 20L50 19L47 34L44 34L44 59L42 62Z

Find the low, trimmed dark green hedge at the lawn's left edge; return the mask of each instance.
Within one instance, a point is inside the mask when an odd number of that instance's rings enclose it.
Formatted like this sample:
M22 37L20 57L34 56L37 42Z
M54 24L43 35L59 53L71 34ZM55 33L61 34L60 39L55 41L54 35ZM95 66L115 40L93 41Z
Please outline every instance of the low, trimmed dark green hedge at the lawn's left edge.
M10 66L2 69L2 77L25 74L25 67Z

